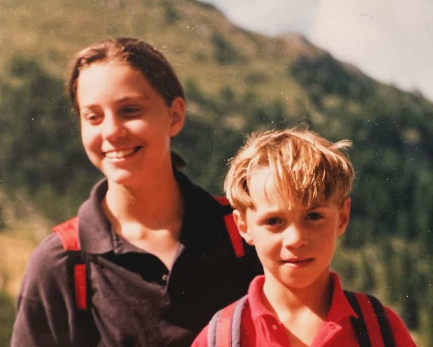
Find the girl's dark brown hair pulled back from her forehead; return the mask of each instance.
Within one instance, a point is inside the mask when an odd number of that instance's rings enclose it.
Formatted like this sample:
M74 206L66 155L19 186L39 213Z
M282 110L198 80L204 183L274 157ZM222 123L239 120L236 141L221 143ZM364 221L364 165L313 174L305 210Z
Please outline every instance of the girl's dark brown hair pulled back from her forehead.
M78 52L72 62L67 88L75 111L79 111L77 80L80 70L96 62L109 61L124 62L139 70L161 95L167 106L171 106L177 97L185 99L181 82L161 52L137 38L109 38Z

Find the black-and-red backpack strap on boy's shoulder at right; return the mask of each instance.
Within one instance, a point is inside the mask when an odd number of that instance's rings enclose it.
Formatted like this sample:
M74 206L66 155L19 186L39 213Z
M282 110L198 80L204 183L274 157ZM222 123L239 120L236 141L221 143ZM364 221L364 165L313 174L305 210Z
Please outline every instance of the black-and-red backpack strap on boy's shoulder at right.
M381 302L372 295L347 290L344 290L344 294L358 315L358 319L351 317L351 323L360 347L395 347L391 326ZM369 336L366 322L370 325L370 334L373 336Z

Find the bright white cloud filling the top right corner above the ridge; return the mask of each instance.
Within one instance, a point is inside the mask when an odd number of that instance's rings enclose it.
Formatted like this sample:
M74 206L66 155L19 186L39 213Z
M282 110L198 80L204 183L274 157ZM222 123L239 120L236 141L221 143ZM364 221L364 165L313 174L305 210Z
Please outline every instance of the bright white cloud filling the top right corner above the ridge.
M309 38L337 59L433 100L431 0L318 0Z

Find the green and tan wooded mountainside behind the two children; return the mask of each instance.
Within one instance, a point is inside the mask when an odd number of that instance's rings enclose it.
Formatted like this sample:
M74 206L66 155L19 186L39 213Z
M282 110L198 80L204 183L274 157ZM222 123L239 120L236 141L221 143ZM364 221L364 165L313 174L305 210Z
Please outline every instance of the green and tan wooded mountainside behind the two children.
M63 83L72 55L107 36L138 36L172 63L188 98L174 147L212 193L221 193L227 159L253 130L304 122L331 140L353 140L351 226L333 267L349 289L399 312L418 345L433 346L433 104L304 37L247 32L195 0L0 3L0 237L17 226L26 230L17 240L48 233L34 215L51 223L74 215L99 177ZM23 213L24 205L37 212ZM0 305L10 308L8 272L0 267ZM12 318L0 318L1 334Z

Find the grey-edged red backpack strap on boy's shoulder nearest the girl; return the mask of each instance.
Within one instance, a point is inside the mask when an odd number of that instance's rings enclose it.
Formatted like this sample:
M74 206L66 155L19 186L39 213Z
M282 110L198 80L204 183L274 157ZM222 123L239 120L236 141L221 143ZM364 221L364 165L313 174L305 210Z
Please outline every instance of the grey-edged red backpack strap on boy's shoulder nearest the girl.
M248 302L245 295L215 313L207 330L208 347L240 347L242 312Z

